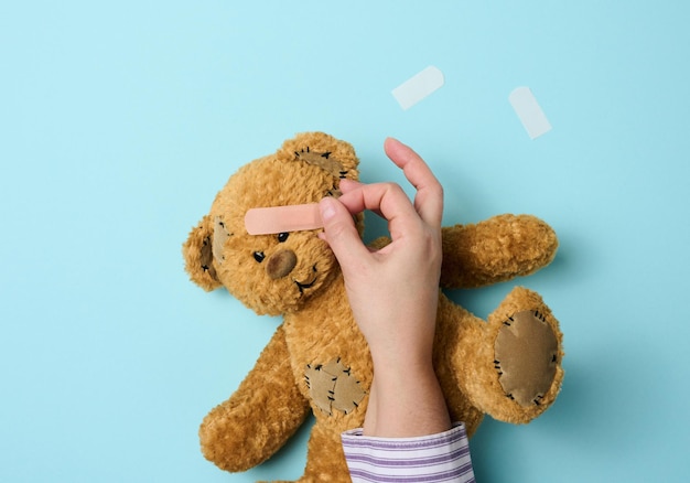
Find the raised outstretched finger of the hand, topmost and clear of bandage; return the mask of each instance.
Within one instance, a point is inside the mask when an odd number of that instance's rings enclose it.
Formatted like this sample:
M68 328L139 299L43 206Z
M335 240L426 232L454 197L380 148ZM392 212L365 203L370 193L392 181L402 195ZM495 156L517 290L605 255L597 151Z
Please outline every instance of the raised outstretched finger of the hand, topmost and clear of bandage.
M414 210L429 225L440 227L443 217L443 186L429 165L412 148L393 138L384 143L386 154L402 169L405 178L414 186Z

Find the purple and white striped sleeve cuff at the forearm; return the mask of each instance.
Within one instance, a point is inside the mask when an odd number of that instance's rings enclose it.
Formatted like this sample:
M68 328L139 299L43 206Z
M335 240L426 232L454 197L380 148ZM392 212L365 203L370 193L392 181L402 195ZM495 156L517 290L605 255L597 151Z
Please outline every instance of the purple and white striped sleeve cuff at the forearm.
M342 441L354 483L474 483L463 423L417 438L374 438L354 429Z

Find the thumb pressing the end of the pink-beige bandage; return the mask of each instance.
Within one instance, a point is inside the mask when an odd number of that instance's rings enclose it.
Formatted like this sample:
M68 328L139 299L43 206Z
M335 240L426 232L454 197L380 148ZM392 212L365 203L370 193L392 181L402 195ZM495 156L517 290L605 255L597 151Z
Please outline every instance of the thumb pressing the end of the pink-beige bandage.
M362 243L353 215L343 203L326 196L319 203L319 210L324 226L323 238L331 246L341 268L347 271L357 260L369 255L369 250Z

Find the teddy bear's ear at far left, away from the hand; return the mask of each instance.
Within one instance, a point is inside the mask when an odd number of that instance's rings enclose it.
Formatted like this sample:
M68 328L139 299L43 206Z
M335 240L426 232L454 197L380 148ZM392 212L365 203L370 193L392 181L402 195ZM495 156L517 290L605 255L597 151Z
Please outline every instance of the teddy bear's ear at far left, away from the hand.
M190 232L182 245L184 268L191 280L206 291L220 287L213 265L213 223L208 215Z

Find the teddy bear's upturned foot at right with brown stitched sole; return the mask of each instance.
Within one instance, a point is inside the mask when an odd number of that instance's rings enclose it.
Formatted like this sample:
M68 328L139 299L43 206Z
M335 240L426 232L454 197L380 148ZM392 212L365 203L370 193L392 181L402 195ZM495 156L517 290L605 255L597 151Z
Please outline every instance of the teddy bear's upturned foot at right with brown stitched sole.
M493 418L525 423L556 400L563 379L562 334L541 297L516 287L488 316L477 375L490 384L475 394Z

